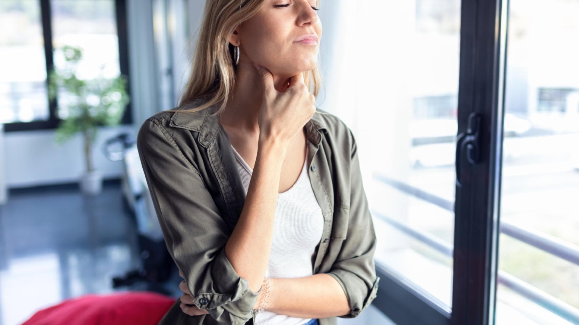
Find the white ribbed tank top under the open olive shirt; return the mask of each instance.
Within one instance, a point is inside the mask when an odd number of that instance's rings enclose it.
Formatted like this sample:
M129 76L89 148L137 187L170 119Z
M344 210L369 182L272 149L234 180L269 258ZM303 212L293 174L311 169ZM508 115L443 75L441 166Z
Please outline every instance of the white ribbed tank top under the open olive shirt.
M253 171L233 146L237 170L244 193ZM306 149L309 150L309 149ZM307 157L307 151L306 151ZM276 217L273 224L272 251L265 276L269 278L301 278L313 275L312 265L316 245L324 230L324 216L312 190L307 172L307 158L294 185L277 194ZM273 289L273 288L272 288ZM311 318L290 317L263 311L255 316L256 325L301 325Z

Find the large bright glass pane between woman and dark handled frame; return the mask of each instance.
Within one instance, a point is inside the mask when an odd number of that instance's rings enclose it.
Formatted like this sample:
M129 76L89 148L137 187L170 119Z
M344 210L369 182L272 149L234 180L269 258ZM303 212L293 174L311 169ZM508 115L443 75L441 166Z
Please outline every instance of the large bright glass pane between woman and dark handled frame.
M352 116L378 234L376 263L450 312L461 3L353 6L343 5L344 23L354 23L340 27L340 44L350 43L334 59L351 64L328 78L346 79L328 107Z

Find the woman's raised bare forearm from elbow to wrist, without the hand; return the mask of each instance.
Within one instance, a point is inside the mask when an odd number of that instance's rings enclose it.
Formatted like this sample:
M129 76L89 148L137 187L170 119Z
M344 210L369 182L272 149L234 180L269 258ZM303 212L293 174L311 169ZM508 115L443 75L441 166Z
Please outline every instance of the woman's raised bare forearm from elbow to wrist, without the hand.
M254 293L263 283L272 249L273 222L286 148L285 143L259 142L243 210L225 245L233 268L248 280Z

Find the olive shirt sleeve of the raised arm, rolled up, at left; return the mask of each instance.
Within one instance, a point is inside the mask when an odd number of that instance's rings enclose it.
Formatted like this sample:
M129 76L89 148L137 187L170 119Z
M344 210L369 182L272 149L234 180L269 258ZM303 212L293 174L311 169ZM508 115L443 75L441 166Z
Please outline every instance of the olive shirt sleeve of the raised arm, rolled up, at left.
M195 162L151 119L138 132L137 150L168 252L195 305L219 323L247 322L262 289L251 291L226 256L228 228Z

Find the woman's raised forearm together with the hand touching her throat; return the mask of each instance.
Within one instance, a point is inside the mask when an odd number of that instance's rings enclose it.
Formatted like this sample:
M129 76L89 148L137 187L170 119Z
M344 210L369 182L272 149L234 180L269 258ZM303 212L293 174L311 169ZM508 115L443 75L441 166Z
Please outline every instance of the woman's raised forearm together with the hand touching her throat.
M290 87L281 93L274 87L267 68L255 68L261 76L263 94L258 116L258 153L241 216L225 251L237 273L250 282L251 290L257 291L269 262L285 151L316 112L316 98L304 83L302 73L291 77Z

